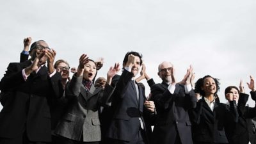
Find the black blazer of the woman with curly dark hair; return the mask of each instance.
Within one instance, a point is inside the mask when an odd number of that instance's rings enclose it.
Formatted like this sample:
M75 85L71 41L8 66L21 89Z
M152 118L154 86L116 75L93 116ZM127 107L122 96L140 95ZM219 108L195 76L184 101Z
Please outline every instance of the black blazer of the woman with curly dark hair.
M229 106L216 100L212 111L203 97L198 100L196 108L191 111L194 143L228 143L225 125L237 122L237 119L235 100L230 101Z

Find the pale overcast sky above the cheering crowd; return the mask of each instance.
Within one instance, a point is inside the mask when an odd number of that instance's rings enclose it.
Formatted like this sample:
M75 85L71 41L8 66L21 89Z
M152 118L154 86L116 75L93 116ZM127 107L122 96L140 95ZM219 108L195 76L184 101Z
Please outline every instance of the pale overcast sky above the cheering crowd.
M209 74L220 79L218 93L256 77L256 1L1 1L0 76L8 63L19 61L23 39L45 40L56 60L77 67L79 56L104 58L99 76L122 63L127 51L143 54L148 75L156 83L157 67L170 61L181 80L189 65L196 79ZM144 84L145 81L143 81ZM150 89L146 87L146 95ZM248 101L254 106L252 99ZM1 109L0 105L0 109Z

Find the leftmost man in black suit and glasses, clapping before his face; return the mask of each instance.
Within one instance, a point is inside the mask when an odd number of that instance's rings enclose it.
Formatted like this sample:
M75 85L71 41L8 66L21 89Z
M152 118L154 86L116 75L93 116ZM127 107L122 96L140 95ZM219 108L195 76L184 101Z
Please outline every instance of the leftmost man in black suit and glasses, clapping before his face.
M31 59L10 63L0 82L1 92L10 92L1 99L0 143L51 141L50 108L54 99L63 94L61 76L53 66L56 51L44 40L32 45Z

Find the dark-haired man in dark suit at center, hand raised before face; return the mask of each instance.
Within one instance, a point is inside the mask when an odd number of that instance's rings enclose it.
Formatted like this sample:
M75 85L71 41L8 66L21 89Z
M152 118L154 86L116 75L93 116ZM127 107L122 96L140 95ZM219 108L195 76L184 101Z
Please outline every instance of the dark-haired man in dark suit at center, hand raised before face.
M111 97L113 118L106 132L111 144L148 143L145 118L154 116L154 103L145 101L145 92L132 79L138 74L141 63L138 52L127 52L125 55L124 71Z

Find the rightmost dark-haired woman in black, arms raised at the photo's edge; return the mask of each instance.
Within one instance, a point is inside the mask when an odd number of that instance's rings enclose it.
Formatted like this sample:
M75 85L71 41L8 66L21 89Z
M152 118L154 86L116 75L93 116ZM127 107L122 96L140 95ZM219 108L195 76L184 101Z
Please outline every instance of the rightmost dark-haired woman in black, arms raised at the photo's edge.
M250 83L248 84L248 88L252 90L251 96L252 99L256 99L256 93L254 89L254 80L253 77L250 76ZM256 116L256 108L250 108L246 105L249 95L244 93L244 88L242 83L240 83L240 91L236 86L228 86L225 89L225 97L227 100L234 97L237 103L237 111L239 113L238 122L230 122L228 123L225 132L228 138L228 142L230 144L248 144L249 143L249 131L250 127L247 127L248 122L252 120L253 117Z

